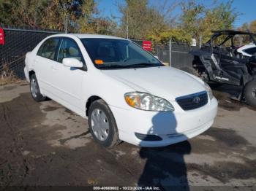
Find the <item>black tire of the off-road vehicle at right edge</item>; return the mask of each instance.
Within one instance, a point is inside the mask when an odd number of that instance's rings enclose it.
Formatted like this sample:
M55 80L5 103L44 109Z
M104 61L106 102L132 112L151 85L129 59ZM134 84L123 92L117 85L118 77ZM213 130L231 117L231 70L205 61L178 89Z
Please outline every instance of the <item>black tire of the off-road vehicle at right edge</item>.
M256 106L256 80L248 82L244 88L244 98L250 106Z

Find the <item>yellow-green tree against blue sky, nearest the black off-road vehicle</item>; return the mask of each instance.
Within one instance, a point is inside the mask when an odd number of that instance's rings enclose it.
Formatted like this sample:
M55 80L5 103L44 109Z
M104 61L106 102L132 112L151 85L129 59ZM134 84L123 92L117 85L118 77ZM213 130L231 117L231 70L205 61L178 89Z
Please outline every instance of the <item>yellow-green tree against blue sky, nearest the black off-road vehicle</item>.
M206 42L211 36L211 31L232 29L233 23L238 16L238 12L232 8L233 0L218 4L214 1L213 7L206 7L189 1L182 3L181 28L192 38L203 37Z

